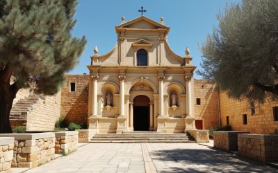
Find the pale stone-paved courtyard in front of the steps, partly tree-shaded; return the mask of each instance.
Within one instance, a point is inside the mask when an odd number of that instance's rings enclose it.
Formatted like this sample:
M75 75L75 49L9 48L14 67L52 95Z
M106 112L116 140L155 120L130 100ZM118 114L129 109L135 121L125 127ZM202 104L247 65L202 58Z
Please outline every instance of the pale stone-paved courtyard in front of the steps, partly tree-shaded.
M278 172L195 143L90 143L27 172Z

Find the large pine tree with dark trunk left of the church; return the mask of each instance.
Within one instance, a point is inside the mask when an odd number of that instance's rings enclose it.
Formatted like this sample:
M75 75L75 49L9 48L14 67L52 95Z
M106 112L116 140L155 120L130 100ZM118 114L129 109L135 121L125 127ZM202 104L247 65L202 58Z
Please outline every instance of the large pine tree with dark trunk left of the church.
M85 48L72 37L76 0L0 1L0 133L11 133L9 114L17 91L57 93L63 75ZM14 79L11 82L11 79Z

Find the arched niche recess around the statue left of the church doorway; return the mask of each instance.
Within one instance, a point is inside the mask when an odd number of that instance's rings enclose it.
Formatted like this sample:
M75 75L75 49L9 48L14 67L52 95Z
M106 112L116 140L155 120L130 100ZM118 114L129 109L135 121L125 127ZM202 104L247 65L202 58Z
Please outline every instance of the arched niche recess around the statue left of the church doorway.
M103 84L101 86L101 98L102 98L102 106L106 107L107 102L106 102L106 95L108 94L108 92L111 93L112 95L112 107L115 107L115 104L117 102L117 100L115 99L115 94L119 94L120 89L119 86L117 86L117 84L113 83L113 82L106 82L105 84Z

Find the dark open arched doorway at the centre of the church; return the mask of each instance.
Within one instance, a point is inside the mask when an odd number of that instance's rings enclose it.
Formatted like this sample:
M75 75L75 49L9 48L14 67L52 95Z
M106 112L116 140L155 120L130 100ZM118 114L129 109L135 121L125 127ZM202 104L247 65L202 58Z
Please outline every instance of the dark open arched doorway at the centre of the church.
M138 95L133 99L134 131L149 131L149 98Z

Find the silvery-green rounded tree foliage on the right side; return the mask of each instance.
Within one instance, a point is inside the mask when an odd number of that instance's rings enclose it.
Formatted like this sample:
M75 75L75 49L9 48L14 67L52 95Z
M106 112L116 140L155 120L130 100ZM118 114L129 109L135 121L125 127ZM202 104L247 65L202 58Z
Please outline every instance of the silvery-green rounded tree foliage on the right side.
M263 103L278 96L278 1L243 0L218 15L202 44L198 71L231 98ZM268 91L268 92L266 92Z

